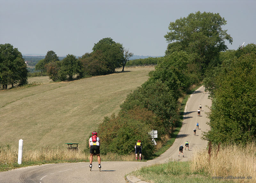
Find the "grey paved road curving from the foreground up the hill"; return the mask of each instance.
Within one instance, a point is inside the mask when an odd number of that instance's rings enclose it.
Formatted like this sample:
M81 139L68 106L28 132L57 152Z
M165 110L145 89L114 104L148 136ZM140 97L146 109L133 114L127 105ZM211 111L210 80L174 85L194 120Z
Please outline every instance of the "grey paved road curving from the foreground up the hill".
M209 112L206 106L211 106L211 101L207 94L203 94L204 88L199 88L192 94L188 100L183 125L177 139L172 147L164 152L161 156L148 162L102 162L101 172L97 168L97 163L93 163L92 171L89 171L89 163L62 163L62 164L45 164L40 166L31 166L19 168L8 172L0 173L0 182L125 182L124 176L142 166L156 163L165 163L170 160L188 161L189 157L196 149L205 148L206 141L201 139L202 131L209 130L206 125L207 118L205 112ZM197 117L197 110L202 104L201 117ZM196 136L193 135L193 129L199 123L199 130ZM184 150L184 158L178 157L179 146L189 142L189 151Z

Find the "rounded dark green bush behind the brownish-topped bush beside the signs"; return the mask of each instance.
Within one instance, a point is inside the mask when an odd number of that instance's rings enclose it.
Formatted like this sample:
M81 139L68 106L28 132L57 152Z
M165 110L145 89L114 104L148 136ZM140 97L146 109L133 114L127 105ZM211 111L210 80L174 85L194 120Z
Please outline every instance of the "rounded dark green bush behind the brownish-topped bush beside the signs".
M147 81L127 95L126 100L121 105L121 110L128 112L136 106L146 108L161 119L160 134L171 133L173 127L178 124L178 104L173 97L173 92L161 81ZM162 132L164 128L164 132Z

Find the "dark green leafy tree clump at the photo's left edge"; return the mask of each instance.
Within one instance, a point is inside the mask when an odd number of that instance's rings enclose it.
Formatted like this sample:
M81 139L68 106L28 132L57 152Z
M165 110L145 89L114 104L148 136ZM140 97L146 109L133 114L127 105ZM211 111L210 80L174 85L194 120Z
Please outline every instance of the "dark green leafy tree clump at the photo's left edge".
M0 44L0 85L7 89L8 85L27 83L28 70L22 54L9 43Z

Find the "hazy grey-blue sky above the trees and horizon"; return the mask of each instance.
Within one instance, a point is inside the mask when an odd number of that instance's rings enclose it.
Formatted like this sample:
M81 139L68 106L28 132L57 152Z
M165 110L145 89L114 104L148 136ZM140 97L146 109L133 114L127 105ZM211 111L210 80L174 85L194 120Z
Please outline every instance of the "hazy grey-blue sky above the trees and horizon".
M197 11L219 13L228 49L256 44L255 0L0 0L0 44L22 55L82 56L110 37L134 55L164 56L170 22Z

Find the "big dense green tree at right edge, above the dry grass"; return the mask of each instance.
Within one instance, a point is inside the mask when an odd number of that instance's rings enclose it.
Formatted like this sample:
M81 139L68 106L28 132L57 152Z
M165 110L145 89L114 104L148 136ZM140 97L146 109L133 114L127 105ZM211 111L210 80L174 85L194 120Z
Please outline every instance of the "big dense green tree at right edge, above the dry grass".
M245 144L256 139L256 54L251 49L238 55L223 62L214 77L211 130L204 133L204 139L213 143Z

